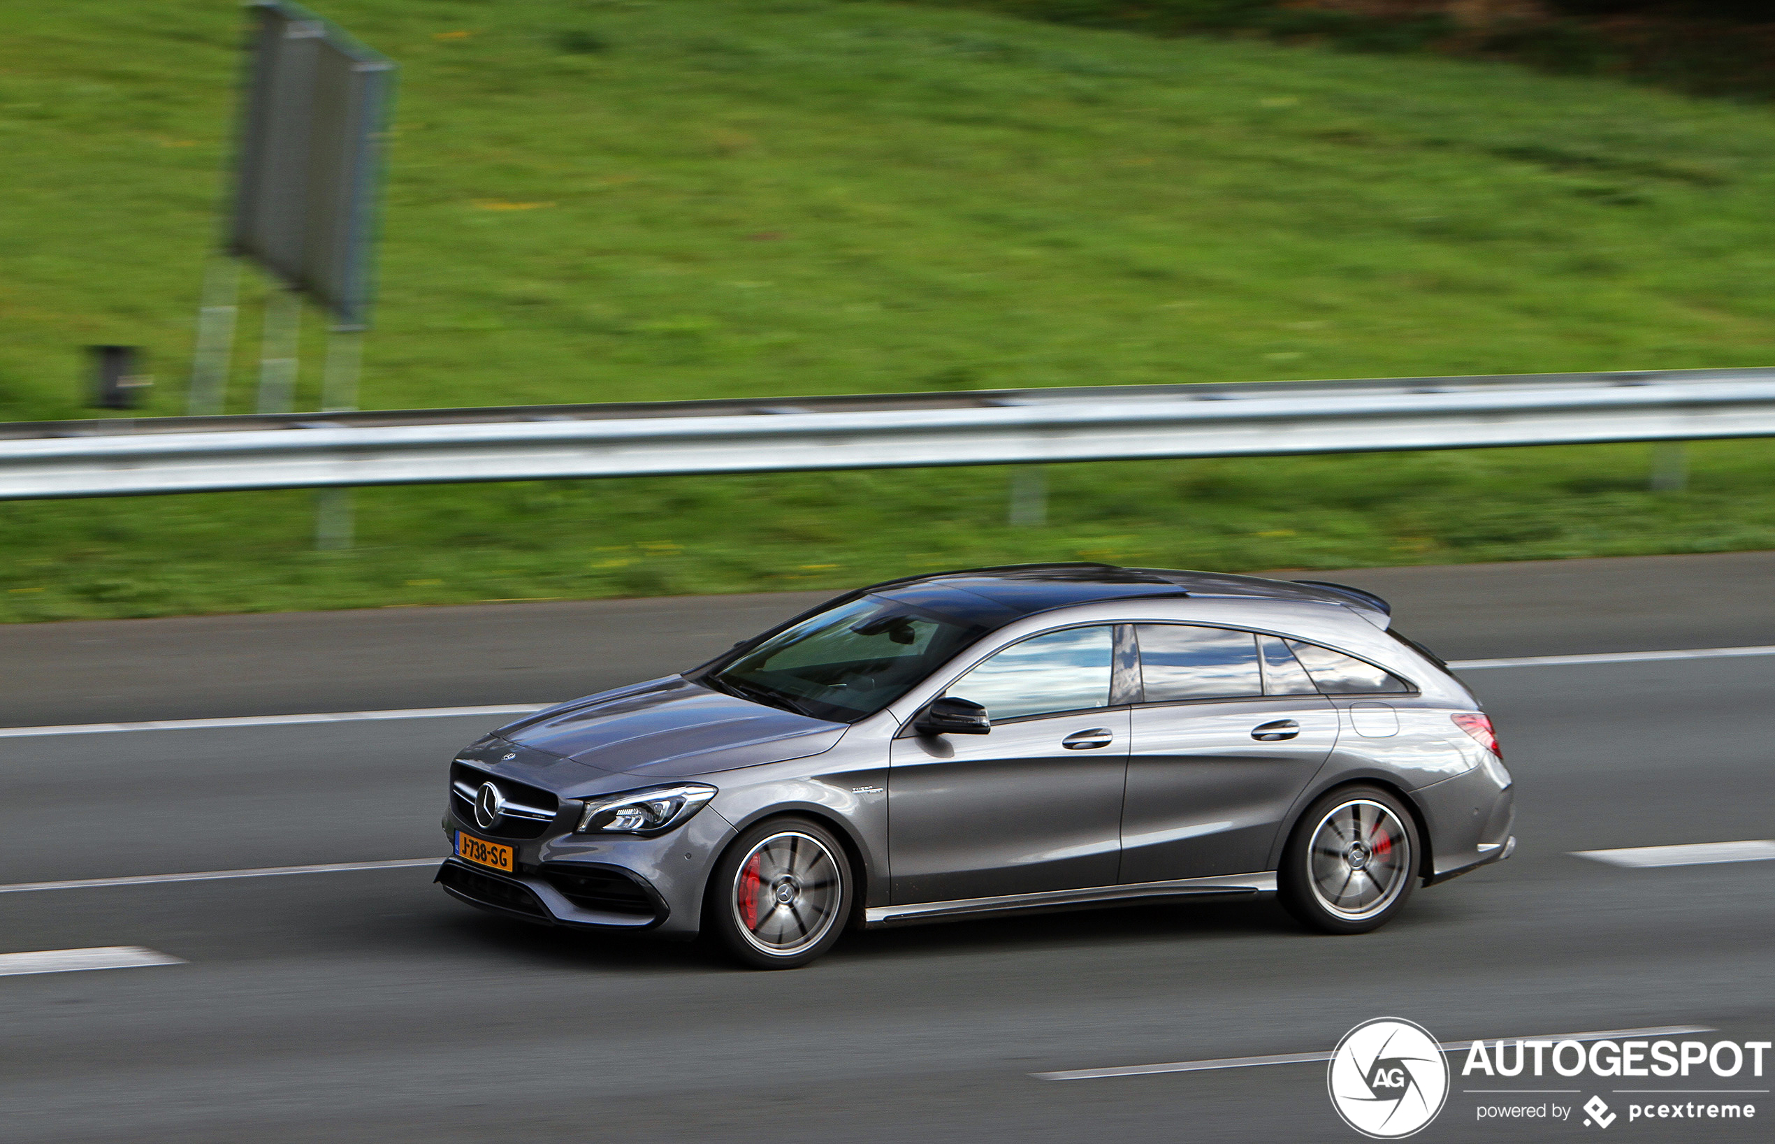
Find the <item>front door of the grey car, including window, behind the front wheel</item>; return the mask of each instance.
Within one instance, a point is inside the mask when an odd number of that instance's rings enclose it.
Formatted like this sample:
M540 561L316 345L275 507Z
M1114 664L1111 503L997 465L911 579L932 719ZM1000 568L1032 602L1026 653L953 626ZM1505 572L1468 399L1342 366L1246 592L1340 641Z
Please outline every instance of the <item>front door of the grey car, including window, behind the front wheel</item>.
M987 735L893 743L895 904L1116 885L1129 712L1111 707L1113 627L1014 643L948 687Z

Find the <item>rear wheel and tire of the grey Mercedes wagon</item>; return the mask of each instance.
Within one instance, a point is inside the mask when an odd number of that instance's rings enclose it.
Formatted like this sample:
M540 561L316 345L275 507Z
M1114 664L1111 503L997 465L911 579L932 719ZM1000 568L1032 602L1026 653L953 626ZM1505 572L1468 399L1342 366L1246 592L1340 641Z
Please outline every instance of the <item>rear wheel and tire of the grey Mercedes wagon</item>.
M1406 908L1424 844L1379 787L1344 787L1306 808L1282 851L1282 904L1308 929L1369 933Z

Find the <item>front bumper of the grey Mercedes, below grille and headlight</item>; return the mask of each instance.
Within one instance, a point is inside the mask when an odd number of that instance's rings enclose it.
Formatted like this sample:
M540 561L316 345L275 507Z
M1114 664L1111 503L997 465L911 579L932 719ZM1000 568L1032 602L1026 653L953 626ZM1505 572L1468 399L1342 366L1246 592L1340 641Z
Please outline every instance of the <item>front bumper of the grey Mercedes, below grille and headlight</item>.
M444 833L451 853L458 831L509 846L515 869L508 874L447 858L437 883L451 897L538 926L662 936L696 934L708 872L733 838L733 828L706 806L659 838L575 835L566 822L541 838L502 838L449 812Z

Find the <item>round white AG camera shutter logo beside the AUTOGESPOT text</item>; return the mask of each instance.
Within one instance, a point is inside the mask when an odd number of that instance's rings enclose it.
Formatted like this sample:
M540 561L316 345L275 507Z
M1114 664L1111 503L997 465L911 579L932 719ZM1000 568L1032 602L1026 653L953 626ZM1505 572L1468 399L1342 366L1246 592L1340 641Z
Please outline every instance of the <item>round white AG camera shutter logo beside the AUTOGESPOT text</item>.
M1381 1016L1344 1034L1326 1087L1345 1124L1376 1140L1399 1140L1441 1112L1448 1061L1422 1025Z

